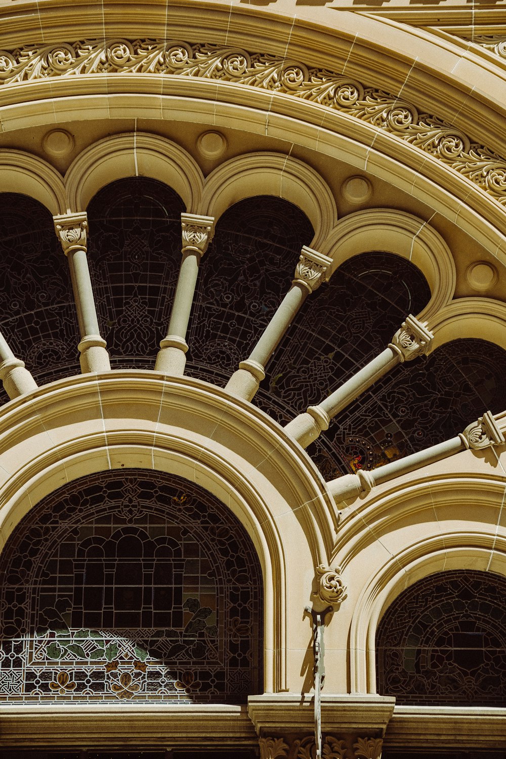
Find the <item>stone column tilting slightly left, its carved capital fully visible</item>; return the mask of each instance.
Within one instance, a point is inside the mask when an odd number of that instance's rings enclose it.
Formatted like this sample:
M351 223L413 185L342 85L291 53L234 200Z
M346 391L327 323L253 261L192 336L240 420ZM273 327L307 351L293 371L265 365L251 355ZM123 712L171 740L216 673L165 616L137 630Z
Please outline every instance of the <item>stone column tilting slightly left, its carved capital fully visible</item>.
M106 342L100 335L99 321L96 317L95 298L90 280L88 260L86 257L86 231L88 222L86 212L67 213L53 216L55 231L71 270L74 300L77 308L77 320L81 340L77 348L80 351L81 372L108 372L111 370Z

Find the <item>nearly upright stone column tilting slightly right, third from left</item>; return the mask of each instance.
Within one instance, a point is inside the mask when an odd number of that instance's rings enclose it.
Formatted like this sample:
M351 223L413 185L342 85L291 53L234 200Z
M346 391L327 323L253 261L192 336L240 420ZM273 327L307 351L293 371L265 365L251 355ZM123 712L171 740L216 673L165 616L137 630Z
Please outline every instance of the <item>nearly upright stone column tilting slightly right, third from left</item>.
M163 374L184 374L188 345L186 333L190 320L196 278L200 260L214 234L214 218L181 213L181 237L183 259L179 269L178 285L172 304L168 332L160 342L155 371Z

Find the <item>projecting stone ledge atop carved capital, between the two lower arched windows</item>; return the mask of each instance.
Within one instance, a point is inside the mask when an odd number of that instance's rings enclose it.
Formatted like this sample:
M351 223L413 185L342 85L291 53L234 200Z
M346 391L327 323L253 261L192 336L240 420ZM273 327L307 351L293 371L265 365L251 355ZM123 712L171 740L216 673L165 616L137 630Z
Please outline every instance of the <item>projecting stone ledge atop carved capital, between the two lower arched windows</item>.
M322 694L322 731L385 732L394 710L389 696L359 694ZM313 694L262 694L248 698L248 713L256 732L312 732Z

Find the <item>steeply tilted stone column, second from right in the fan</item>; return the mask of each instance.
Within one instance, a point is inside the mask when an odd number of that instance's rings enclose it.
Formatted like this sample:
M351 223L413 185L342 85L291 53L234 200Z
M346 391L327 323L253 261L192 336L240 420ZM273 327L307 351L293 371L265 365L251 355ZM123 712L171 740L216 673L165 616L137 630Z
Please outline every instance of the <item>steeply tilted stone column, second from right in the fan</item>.
M413 358L427 354L433 337L426 323L419 322L411 315L408 316L402 323L401 329L395 332L392 342L379 356L369 361L369 364L350 377L332 395L328 395L328 398L319 405L310 406L305 414L299 414L288 422L284 429L297 440L300 446L306 448L313 440L316 440L322 430L328 430L332 417L356 400L377 379L397 364L412 361Z

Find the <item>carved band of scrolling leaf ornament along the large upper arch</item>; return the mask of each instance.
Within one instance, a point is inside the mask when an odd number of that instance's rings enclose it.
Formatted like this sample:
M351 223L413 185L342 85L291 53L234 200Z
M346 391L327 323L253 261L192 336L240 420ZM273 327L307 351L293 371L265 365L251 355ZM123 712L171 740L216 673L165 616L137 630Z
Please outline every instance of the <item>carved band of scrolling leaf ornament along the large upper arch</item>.
M503 50L502 41L490 40ZM89 74L200 77L291 95L366 121L429 153L506 206L506 159L413 103L301 61L209 43L160 39L86 39L0 51L0 81Z

